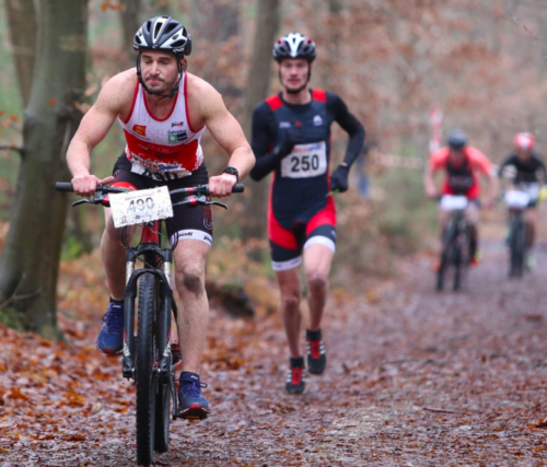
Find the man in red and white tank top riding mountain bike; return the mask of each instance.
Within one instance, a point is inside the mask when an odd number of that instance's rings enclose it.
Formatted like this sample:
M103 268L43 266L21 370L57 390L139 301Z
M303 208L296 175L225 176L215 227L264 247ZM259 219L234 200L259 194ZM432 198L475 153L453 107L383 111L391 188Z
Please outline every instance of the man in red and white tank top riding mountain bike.
M85 114L70 143L67 160L74 191L91 196L97 184L170 190L209 183L211 196L230 196L255 157L222 96L207 82L186 72L191 38L170 16L142 24L133 38L139 51L137 68L112 78L97 102ZM98 179L90 172L90 154L114 121L121 125L127 145L114 165L113 177ZM206 126L230 154L229 166L208 178L200 139ZM212 242L209 207L173 208L167 234L174 249L175 281L183 306L178 334L183 354L179 399L184 417L203 417L209 404L201 394L201 354L207 335L209 303L205 291L205 264ZM121 229L115 229L110 209L105 209L101 254L110 291L110 304L97 338L98 350L118 353L123 347L125 247ZM135 230L132 230L132 233Z

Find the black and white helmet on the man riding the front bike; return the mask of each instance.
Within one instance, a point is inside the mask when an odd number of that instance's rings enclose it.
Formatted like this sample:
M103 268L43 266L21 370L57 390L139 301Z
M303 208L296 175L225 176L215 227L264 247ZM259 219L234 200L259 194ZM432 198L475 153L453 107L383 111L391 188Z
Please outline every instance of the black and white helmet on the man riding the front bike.
M185 56L191 52L191 37L178 21L171 16L155 16L140 26L133 37L133 48L164 50Z

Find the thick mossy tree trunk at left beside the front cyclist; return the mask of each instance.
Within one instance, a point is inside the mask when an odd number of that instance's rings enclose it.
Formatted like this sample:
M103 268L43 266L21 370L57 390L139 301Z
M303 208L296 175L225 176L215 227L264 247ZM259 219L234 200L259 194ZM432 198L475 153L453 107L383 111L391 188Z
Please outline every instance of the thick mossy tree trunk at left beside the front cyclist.
M0 255L0 308L15 312L25 329L57 338L56 287L68 200L54 184L69 179L65 152L81 119L74 104L85 89L88 0L40 0L39 5L36 77Z

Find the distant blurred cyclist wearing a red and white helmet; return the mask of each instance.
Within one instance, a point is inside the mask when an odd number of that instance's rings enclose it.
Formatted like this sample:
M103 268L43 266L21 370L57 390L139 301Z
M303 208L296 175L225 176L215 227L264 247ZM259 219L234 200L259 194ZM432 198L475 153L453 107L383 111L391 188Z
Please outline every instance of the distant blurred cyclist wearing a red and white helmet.
M512 167L513 185L516 189L529 196L528 208L524 213L526 222L526 267L532 269L534 246L537 231L537 202L542 184L546 180L547 170L545 164L534 151L535 140L532 133L517 133L513 139L514 151L505 159L499 170L501 177L508 167Z

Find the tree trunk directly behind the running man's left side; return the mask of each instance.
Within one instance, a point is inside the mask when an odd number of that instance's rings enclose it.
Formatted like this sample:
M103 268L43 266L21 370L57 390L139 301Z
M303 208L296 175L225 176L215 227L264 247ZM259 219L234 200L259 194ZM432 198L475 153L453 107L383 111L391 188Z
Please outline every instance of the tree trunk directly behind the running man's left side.
M251 125L255 106L267 97L270 70L271 49L279 30L279 0L258 0L256 33L248 70L247 86L245 87L245 107L243 130L251 140ZM268 202L268 179L260 183L245 180L252 196L246 197L246 223L243 225L244 238L264 238L266 236L266 212Z

